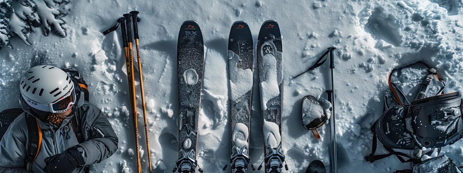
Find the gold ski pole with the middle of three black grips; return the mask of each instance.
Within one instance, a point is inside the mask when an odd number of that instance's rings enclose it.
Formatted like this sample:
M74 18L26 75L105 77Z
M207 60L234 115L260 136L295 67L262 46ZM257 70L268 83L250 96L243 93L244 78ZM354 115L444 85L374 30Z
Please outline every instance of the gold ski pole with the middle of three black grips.
M129 78L129 89L131 92L131 104L132 104L132 114L133 114L133 127L135 130L135 145L137 149L137 167L138 173L142 172L142 168L140 165L140 146L138 144L138 121L137 121L137 101L136 101L136 93L135 93L135 82L133 78L133 50L132 50L132 31L130 27L131 22L131 14L124 14L125 17L125 27L127 29L127 50L128 56L125 59L125 63L127 64L127 77Z

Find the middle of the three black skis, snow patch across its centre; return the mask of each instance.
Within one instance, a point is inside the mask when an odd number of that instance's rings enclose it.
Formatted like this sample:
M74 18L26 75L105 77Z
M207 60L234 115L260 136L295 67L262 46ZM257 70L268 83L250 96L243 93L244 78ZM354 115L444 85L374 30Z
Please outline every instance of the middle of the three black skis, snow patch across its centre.
M249 157L249 119L252 93L254 43L244 21L232 24L228 39L228 77L230 80L230 130L232 173L247 173ZM224 167L227 168L228 163ZM255 170L251 162L251 168Z

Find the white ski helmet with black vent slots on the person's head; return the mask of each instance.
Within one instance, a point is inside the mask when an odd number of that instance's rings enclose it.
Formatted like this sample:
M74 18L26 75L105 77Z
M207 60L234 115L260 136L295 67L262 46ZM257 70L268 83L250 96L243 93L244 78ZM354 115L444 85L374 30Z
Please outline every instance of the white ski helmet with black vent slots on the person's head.
M55 66L34 66L24 73L19 84L23 98L48 105L74 89L66 72ZM26 102L31 105L31 101ZM34 106L32 106L34 107Z

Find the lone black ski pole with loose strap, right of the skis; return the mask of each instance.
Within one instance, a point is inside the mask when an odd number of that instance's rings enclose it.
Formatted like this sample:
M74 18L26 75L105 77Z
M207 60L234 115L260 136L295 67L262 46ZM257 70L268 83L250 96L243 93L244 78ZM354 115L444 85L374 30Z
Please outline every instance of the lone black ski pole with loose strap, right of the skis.
M330 169L331 173L338 173L338 159L337 159L337 154L336 154L336 118L335 118L335 113L334 113L334 55L333 51L336 49L335 47L330 47L328 50L323 54L317 62L313 66L311 66L307 71L313 70L325 63L326 60L328 60L328 53L330 54L330 68L331 68L331 89L326 90L326 94L328 94L328 101L331 103L331 117L330 117ZM326 56L326 59L323 60ZM322 61L323 60L323 61ZM297 78L298 76L304 74L305 72L295 76L294 78Z

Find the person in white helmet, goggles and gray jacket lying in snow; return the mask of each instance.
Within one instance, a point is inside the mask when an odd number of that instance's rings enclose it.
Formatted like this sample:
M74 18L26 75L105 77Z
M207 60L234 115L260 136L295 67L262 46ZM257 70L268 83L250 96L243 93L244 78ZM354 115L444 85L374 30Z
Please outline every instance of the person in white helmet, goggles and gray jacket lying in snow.
M84 101L81 86L54 66L25 72L19 86L25 112L0 141L0 173L88 173L88 165L114 154L119 139L101 110ZM38 147L30 147L36 136Z

